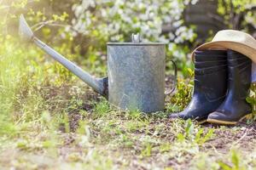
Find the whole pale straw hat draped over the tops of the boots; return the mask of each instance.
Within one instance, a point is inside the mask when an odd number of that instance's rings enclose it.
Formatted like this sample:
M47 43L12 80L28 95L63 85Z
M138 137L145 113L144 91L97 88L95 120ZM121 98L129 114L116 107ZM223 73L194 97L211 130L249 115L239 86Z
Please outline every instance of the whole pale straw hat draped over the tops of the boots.
M256 40L249 34L236 30L223 30L213 37L212 42L207 42L195 50L228 48L246 55L256 63ZM194 59L195 50L192 52Z

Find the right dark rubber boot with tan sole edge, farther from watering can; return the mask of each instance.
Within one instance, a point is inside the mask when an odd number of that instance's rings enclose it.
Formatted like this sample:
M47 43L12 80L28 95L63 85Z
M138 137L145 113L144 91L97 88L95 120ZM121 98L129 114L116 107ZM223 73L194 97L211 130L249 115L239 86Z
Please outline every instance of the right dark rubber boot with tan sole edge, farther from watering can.
M252 113L246 101L251 84L252 60L238 52L228 50L229 81L224 103L212 112L207 122L234 125Z

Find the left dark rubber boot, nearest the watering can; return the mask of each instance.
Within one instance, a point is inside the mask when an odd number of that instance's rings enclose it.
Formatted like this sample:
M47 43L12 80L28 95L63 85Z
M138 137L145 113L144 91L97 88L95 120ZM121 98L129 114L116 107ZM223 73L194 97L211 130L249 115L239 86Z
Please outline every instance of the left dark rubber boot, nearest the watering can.
M224 50L195 52L194 93L189 105L170 118L192 119L200 123L216 111L227 94L227 53Z

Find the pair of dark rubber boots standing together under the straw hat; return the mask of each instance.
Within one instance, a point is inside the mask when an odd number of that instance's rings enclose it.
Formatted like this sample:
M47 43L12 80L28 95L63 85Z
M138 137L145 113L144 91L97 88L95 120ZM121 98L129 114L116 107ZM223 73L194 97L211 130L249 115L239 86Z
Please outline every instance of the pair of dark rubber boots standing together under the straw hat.
M252 113L246 98L252 60L232 50L195 52L194 94L187 108L170 118L236 124Z

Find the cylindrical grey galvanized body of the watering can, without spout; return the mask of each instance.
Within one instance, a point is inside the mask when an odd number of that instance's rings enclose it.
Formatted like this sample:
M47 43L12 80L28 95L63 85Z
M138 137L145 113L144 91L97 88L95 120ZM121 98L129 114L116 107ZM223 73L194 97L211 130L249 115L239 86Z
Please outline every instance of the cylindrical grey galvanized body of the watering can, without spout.
M164 43L108 43L108 99L121 109L165 108Z

